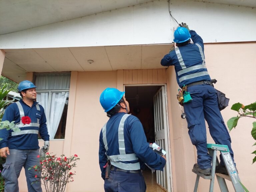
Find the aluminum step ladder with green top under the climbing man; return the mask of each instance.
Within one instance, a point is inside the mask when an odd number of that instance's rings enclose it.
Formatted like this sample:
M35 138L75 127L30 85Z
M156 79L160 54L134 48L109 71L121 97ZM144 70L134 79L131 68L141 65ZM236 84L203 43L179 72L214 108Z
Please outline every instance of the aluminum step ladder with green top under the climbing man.
M209 192L213 192L215 174L216 174L221 192L228 192L228 188L227 188L225 179L232 182L235 192L244 192L244 189L240 183L240 178L238 176L238 172L237 172L236 167L235 167L235 165L232 161L232 158L230 156L228 146L227 145L218 145L218 144L207 144L207 148L208 148L209 154L212 156L212 172L211 172L210 176L206 176L201 173L195 172L192 169L192 172L197 174L194 192L197 192L200 177L202 177L204 179L211 180ZM223 158L223 161L225 163L225 166L226 166L226 169L227 169L229 175L215 173L215 166L219 165L219 161L217 158L217 150L220 151L220 153L221 153L221 156Z

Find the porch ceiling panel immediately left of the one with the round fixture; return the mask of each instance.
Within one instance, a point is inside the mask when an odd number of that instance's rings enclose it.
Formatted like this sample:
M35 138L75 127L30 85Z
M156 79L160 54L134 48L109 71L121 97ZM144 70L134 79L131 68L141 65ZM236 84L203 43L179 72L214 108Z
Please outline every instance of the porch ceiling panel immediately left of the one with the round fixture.
M84 71L69 48L34 49L55 71Z

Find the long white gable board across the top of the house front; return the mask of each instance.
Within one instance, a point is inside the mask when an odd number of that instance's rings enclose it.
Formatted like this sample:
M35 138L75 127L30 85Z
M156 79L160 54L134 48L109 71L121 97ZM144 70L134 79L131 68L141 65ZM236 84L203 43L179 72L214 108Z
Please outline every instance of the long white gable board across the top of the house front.
M205 43L256 40L256 9L189 0L172 0L170 9ZM159 0L0 35L0 49L167 44L177 26Z

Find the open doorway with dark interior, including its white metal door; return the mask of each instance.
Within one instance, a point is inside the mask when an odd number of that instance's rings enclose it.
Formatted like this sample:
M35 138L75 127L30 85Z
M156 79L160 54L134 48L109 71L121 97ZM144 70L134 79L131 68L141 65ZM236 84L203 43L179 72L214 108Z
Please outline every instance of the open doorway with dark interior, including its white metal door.
M162 85L125 86L125 97L129 102L130 113L138 117L143 125L147 142L155 142L167 152L164 172L152 173L150 169L143 171L147 192L170 192L165 87Z

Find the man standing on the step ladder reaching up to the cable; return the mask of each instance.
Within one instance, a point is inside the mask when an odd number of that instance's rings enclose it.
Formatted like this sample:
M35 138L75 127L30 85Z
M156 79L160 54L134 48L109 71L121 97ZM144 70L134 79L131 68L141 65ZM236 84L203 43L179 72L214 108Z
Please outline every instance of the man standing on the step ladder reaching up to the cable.
M176 48L170 49L169 54L161 60L161 65L174 65L179 86L187 85L191 102L184 103L184 112L188 123L188 134L191 142L197 148L197 164L194 171L210 175L211 156L207 150L205 120L209 125L210 134L216 144L227 145L234 161L231 148L231 138L218 108L217 91L214 89L208 74L202 38L186 23L180 24L174 32ZM190 38L193 43L190 42ZM222 157L216 173L228 174Z

